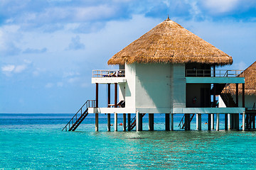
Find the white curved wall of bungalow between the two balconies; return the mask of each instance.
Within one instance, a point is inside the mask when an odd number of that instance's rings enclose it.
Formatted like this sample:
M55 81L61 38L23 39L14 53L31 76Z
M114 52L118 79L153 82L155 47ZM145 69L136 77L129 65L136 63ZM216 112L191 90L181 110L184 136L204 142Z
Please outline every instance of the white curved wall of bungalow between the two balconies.
M140 113L170 113L186 106L184 64L126 64L125 105Z

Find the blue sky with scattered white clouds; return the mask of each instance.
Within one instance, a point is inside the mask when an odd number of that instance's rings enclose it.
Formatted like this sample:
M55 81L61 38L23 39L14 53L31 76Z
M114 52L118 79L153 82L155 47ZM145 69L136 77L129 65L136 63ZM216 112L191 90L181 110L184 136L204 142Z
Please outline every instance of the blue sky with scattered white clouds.
M0 113L75 113L95 98L92 69L116 68L167 14L231 55L225 69L255 62L255 0L0 0Z

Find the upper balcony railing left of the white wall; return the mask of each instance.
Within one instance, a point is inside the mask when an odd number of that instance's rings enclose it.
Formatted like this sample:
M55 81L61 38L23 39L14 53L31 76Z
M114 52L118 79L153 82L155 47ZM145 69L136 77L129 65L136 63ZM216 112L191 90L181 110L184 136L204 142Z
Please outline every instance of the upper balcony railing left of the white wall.
M92 77L125 77L124 69L92 70Z

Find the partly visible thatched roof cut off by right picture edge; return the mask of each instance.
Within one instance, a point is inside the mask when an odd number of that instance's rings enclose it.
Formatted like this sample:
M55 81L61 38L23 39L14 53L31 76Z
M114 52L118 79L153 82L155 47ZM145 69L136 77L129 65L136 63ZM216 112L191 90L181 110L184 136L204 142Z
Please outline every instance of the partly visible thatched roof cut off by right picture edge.
M241 74L245 77L245 94L256 95L256 61ZM230 87L235 93L235 84L230 84ZM238 84L238 93L242 94L242 84Z

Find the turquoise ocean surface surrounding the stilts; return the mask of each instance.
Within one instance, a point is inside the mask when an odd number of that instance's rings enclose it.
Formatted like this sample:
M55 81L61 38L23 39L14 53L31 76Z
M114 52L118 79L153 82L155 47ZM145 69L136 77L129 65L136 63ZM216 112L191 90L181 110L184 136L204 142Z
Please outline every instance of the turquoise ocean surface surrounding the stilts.
M256 169L256 132L164 131L164 114L154 117L149 132L107 132L107 115L88 115L75 132L62 128L73 114L0 114L0 169ZM133 117L134 115L132 115ZM113 117L113 116L112 116ZM118 115L122 123L122 115ZM114 123L114 120L112 120ZM241 122L240 122L241 124Z

